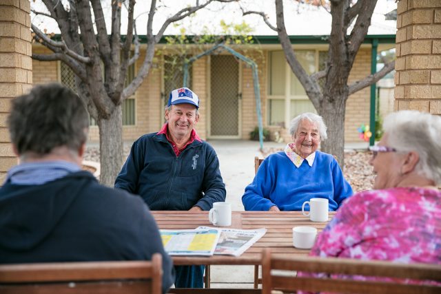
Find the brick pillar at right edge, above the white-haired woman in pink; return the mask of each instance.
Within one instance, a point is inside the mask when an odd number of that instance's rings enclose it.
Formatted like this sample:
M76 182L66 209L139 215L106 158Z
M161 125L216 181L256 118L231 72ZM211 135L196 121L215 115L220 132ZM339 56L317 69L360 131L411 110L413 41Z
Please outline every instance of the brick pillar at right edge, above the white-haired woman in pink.
M396 110L441 114L441 0L400 0L396 35Z

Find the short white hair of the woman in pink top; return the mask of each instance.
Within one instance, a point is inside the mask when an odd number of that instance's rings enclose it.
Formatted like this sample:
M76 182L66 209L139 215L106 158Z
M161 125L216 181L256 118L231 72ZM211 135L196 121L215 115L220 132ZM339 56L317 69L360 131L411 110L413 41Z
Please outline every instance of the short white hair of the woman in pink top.
M441 117L416 110L402 110L386 116L383 123L387 145L397 151L416 151L415 170L441 185Z

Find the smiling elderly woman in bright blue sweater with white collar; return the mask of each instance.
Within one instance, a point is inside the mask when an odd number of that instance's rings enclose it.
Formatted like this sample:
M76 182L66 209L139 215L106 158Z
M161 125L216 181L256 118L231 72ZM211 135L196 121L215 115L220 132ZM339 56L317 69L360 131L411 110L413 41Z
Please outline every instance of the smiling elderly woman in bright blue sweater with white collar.
M353 192L334 156L317 150L326 129L310 112L291 120L293 143L262 162L242 196L245 210L296 211L311 198L327 198L329 210L338 209Z

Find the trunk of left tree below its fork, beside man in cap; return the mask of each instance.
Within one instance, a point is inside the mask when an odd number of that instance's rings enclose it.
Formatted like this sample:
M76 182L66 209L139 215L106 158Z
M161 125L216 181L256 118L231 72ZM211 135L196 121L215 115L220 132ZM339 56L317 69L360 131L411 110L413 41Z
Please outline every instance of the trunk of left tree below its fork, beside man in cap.
M108 119L99 118L100 182L113 187L123 165L123 112L115 107Z

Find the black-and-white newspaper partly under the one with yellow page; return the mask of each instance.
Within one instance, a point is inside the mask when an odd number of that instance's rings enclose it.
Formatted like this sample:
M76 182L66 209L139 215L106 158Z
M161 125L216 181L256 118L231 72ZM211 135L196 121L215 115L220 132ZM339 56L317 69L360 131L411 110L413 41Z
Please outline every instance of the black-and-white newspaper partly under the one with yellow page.
M197 229L212 228L198 227ZM219 228L218 230L220 231L220 237L214 254L234 256L244 253L267 232L267 229L240 230Z

